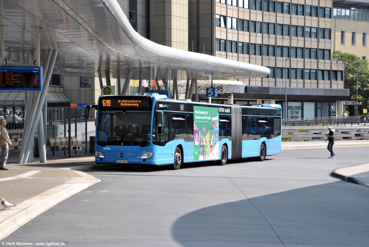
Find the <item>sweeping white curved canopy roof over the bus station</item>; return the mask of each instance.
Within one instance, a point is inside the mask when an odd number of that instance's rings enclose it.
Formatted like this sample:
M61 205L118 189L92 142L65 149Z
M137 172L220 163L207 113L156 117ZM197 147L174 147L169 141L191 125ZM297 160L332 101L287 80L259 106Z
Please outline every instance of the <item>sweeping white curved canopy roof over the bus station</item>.
M39 20L40 49L58 49L55 73L97 76L110 71L111 77L120 66L124 71L139 70L148 78L165 78L167 69L186 72L195 78L242 79L263 77L270 70L230 59L183 51L156 44L131 27L116 0L2 0L4 17L5 58L20 63L21 54L31 63L30 50L35 48ZM1 3L1 1L0 1ZM38 19L38 20L37 20ZM42 60L42 59L41 59ZM119 64L119 65L118 65ZM104 73L102 73L104 75Z

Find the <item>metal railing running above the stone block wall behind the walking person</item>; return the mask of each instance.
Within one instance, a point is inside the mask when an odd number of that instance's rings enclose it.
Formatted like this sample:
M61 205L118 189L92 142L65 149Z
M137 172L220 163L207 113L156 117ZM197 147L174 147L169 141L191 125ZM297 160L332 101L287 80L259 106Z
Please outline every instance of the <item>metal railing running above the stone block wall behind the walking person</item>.
M364 116L339 116L327 118L283 119L282 126L342 126L369 125L369 118Z

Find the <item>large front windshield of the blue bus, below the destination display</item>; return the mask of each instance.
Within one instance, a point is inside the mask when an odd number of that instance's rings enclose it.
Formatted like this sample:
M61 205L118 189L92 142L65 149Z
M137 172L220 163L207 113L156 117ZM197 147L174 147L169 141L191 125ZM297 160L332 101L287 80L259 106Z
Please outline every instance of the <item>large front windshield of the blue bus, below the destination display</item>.
M151 111L99 111L97 145L146 147L150 128Z

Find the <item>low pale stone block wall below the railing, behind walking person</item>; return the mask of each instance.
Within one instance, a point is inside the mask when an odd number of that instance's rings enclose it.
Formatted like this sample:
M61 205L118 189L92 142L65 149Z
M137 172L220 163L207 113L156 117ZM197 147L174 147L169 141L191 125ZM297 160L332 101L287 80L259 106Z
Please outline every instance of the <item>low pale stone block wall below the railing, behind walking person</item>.
M332 126L335 140L368 140L369 126ZM305 132L299 132L305 131ZM282 127L282 141L310 142L325 141L327 126Z

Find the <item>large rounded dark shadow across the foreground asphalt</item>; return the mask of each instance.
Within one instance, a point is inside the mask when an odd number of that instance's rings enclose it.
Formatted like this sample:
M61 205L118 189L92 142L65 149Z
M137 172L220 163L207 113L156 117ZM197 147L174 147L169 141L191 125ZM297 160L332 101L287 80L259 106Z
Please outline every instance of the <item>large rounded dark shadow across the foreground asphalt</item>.
M231 181L247 195L249 184ZM185 247L368 246L368 206L367 187L331 182L201 208L176 220L172 232Z

